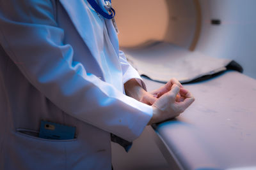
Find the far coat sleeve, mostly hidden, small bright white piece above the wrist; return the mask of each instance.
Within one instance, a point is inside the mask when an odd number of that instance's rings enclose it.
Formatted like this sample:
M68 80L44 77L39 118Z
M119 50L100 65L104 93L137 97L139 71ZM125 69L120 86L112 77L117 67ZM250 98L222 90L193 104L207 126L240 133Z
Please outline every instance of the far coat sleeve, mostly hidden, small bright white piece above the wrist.
M121 50L119 51L119 59L120 59L120 64L121 64L122 72L123 72L123 83L126 83L127 81L131 80L132 78L136 78L138 83L140 83L141 87L143 87L143 89L147 90L144 81L140 77L140 74L138 73L138 71L136 71L136 69L134 69L134 67L131 66L131 64L129 64L129 62L127 61L127 59L125 57L124 52Z

